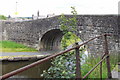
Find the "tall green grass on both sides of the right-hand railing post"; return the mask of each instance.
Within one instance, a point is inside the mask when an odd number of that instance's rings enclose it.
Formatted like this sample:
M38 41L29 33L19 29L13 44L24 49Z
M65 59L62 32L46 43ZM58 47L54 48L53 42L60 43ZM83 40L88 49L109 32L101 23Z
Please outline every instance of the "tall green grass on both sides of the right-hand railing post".
M82 65L82 75L85 75L88 71L90 71L100 61L100 59L100 57L86 58L86 63ZM118 65L116 65L116 63L113 61L116 61L116 59L114 57L111 57L111 71L116 70L119 72ZM100 65L88 76L88 78L100 78ZM106 60L102 62L102 78L107 78Z

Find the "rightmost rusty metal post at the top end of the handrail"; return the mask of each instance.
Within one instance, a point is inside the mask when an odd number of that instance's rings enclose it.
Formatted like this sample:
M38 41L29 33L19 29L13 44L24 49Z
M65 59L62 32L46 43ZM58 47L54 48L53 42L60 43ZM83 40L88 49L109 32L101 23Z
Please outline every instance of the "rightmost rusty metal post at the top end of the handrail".
M111 79L112 78L112 74L111 74L111 69L110 69L110 59L109 59L107 35L104 35L104 37L105 37L105 54L108 55L108 57L106 58L108 78Z

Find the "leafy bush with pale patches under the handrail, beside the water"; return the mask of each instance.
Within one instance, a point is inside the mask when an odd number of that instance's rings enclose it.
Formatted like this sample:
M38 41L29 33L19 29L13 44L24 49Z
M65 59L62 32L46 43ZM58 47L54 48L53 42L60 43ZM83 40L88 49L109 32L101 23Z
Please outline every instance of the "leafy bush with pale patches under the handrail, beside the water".
M52 66L43 72L45 78L75 78L75 52L71 51L57 56L52 60Z

